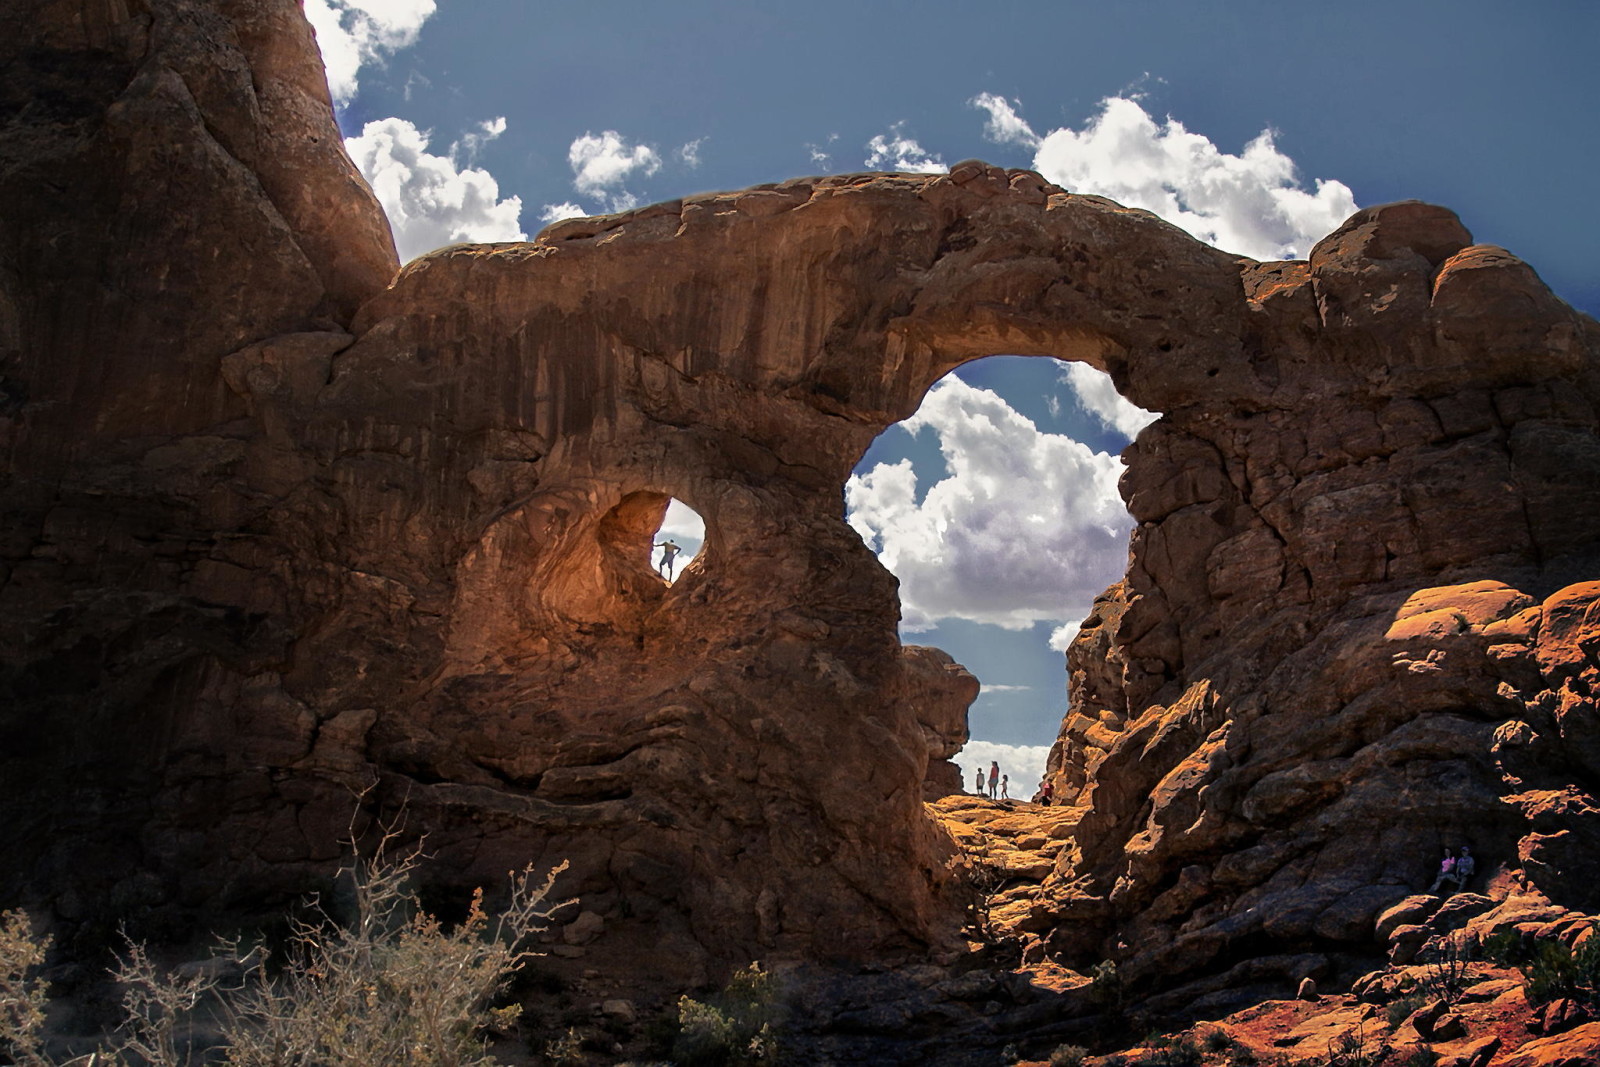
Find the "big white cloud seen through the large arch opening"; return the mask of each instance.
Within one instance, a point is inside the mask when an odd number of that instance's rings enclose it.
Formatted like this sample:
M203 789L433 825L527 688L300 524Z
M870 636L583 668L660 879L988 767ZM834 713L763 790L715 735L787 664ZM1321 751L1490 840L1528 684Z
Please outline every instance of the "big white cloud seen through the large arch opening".
M946 477L917 501L909 459L845 485L850 525L901 582L909 632L941 619L1011 630L1083 619L1128 563L1122 464L1045 434L957 376L901 424L939 438Z

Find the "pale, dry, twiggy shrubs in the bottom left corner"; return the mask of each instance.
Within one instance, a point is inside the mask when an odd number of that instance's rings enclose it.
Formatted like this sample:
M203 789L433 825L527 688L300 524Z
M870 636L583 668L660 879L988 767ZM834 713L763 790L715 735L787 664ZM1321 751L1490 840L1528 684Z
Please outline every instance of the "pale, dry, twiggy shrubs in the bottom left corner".
M275 973L218 966L179 974L131 944L115 969L125 1021L94 1062L187 1067L224 1054L235 1067L488 1067L485 1035L512 1025L520 1011L494 1008L493 998L533 955L528 942L555 910L550 885L565 864L542 881L531 870L514 873L510 902L496 915L483 910L480 891L467 918L446 928L410 888L418 859L413 851L392 861L382 848L358 859L346 872L355 897L350 921L318 909L315 920L291 923ZM222 950L219 960L238 958L237 944ZM8 915L0 1037L26 1067L51 1062L38 1033L43 990L30 977L43 953L26 920Z

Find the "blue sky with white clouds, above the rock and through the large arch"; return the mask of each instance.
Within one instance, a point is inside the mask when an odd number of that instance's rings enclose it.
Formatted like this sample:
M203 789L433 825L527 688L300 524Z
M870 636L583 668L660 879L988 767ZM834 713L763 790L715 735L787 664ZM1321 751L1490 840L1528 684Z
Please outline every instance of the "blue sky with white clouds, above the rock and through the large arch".
M1432 200L1600 312L1594 0L306 6L402 258L560 214L979 157L1256 258L1304 254L1357 205ZM1051 635L1120 576L1106 469L1136 419L1050 362L958 374L915 434L867 454L853 520L896 557L907 619L931 625L906 640L986 683L965 761L998 757L1027 782L1064 707ZM1050 474L1062 464L1075 474ZM1048 494L1045 515L1013 507ZM942 555L925 544L941 528ZM1048 598L1030 569L1054 563L1110 569L1058 582L1048 611L1024 603ZM1008 581L1011 616L979 603Z

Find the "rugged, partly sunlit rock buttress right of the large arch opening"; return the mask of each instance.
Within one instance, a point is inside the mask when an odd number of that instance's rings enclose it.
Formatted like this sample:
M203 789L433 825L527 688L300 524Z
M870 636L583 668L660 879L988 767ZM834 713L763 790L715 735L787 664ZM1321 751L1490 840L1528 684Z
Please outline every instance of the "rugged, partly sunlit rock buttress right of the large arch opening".
M1461 846L1480 886L1600 905L1595 322L1421 203L1240 280L1238 349L1141 400L1042 945L1160 982L1250 945L1293 979Z

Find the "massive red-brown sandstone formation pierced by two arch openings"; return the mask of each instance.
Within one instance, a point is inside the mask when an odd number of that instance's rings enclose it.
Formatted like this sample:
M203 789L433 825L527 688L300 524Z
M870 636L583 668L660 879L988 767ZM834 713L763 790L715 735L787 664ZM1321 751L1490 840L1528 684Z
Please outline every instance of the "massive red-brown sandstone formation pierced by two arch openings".
M954 945L923 795L976 685L901 646L842 486L997 352L1163 413L1069 657L1042 945L1370 937L1458 837L1595 885L1600 330L1448 211L1256 264L962 163L390 283L291 0L6 18L5 901L160 929L403 808L456 886L570 859L598 966ZM670 498L707 539L667 584Z

